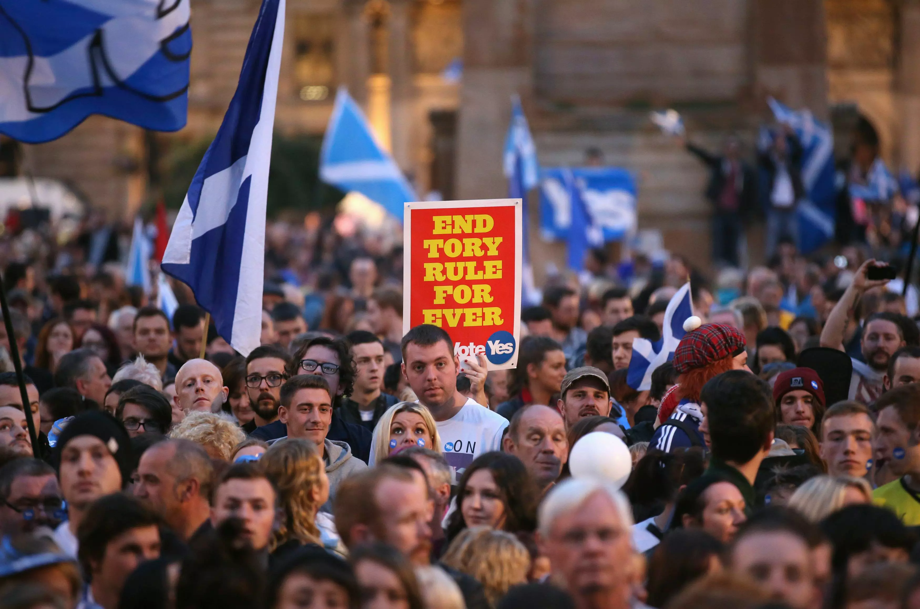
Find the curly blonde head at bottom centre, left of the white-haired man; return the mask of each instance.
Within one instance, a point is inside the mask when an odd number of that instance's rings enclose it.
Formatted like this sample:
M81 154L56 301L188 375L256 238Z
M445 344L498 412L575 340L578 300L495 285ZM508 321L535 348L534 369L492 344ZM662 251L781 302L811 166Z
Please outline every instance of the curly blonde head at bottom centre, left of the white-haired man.
M493 607L512 586L527 583L530 572L530 553L517 537L487 527L458 534L442 562L479 580Z

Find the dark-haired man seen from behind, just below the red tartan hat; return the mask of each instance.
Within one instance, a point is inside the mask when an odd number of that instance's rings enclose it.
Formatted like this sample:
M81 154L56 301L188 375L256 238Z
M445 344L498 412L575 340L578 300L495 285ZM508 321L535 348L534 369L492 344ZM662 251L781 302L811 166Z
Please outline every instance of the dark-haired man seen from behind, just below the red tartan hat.
M730 370L710 379L699 395L712 457L707 472L726 478L753 510L753 482L773 445L776 411L770 385L746 370Z

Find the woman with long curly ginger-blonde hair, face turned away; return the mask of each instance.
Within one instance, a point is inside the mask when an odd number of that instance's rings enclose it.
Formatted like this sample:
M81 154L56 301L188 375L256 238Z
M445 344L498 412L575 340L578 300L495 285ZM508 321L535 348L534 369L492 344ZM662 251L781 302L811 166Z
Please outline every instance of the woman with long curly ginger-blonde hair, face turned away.
M316 444L300 438L273 443L259 459L278 489L283 516L271 539L270 551L282 553L297 546L316 544L343 554L335 524L328 514L317 517L329 498L329 478Z

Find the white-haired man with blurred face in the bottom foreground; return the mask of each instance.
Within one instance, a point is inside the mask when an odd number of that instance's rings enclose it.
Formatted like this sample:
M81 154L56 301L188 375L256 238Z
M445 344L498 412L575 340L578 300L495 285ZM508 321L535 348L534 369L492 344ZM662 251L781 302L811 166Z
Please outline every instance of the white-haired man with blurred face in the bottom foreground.
M577 609L628 609L636 570L627 498L602 481L569 478L546 495L538 513L540 554L551 580Z

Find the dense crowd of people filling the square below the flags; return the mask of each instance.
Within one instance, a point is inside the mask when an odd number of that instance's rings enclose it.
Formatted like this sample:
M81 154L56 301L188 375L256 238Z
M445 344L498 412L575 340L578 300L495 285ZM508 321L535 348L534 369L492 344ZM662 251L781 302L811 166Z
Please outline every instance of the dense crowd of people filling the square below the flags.
M0 606L920 607L918 311L884 263L595 252L515 368L461 370L404 334L397 250L307 224L270 227L246 357L180 284L171 316L124 285L104 225L3 243ZM698 319L630 384L687 281ZM569 470L598 433L622 487Z

